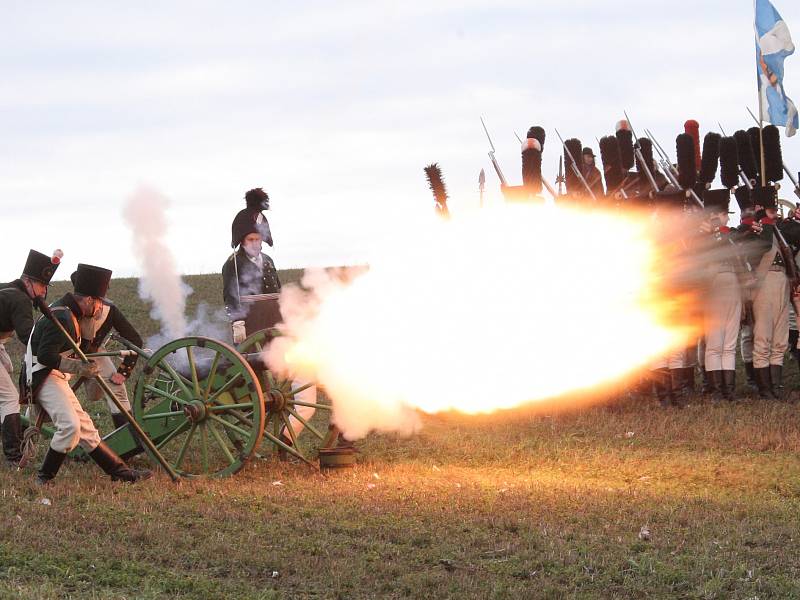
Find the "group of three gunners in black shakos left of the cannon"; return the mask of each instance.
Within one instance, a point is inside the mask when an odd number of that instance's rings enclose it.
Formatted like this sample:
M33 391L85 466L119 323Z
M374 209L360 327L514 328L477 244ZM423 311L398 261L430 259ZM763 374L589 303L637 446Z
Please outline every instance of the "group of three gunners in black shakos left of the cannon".
M98 358L83 362L76 356L71 342L84 352L102 351L111 330L141 346L142 339L121 311L106 298L111 271L102 267L79 264L72 274L73 290L49 306L49 312L63 326L41 316L34 321L34 308L42 310L50 282L61 262L56 251L48 256L31 250L19 279L0 284L0 429L3 454L7 463L17 467L22 455L21 404L28 405L28 417L35 421L39 411L54 426L47 454L39 467L36 482L47 484L56 476L67 455L80 446L114 481L135 483L151 476L145 469L131 468L106 445L91 417L75 395L70 380L87 382L90 398L97 398L96 377L107 380L114 395L130 410L125 380L136 364L130 356L115 367L110 359ZM26 347L20 368L20 389L14 385L14 365L5 350L5 343L16 333ZM112 407L116 427L127 421Z

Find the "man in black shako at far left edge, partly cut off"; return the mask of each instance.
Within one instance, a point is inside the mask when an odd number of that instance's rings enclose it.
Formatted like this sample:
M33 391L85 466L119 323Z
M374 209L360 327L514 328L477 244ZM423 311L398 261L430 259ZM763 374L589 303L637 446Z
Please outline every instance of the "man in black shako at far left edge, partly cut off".
M33 300L47 296L47 286L61 260L61 251L47 256L36 250L28 253L22 276L11 283L0 284L0 423L3 454L11 465L22 458L22 429L19 416L19 392L11 380L14 366L5 343L16 332L17 339L27 345L33 329Z

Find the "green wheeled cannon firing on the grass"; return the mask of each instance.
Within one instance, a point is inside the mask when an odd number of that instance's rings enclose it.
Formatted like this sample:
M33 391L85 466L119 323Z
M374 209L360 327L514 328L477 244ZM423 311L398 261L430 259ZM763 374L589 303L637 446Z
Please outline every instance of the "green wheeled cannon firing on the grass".
M236 348L190 336L155 352L114 337L126 350L103 355L135 352L144 361L131 413L153 442L153 449L144 447L149 457L162 466L166 462L168 470L183 478L228 477L250 459L270 454L291 455L312 468L317 468L317 459L322 466L352 464L354 451L335 447L338 430L328 425L321 431L303 415L302 407L331 411L316 396L313 401L303 398L302 392L315 384L278 377L263 362L262 350L277 335L275 329L262 330ZM92 356L98 354L87 354ZM28 439L39 430L52 435L52 428L27 424ZM137 437L126 424L103 440L120 456L130 456L141 448ZM82 452L76 449L73 457Z

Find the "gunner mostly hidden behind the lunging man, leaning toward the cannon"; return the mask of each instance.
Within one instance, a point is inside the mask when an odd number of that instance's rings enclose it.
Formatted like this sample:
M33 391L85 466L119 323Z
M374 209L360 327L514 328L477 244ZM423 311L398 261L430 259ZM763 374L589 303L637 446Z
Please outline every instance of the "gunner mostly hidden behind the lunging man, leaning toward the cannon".
M75 285L77 276L77 271L70 276L73 286ZM112 330L116 331L121 337L128 340L133 345L139 346L140 348L142 347L142 336L139 335L139 332L131 325L130 321L125 318L125 315L122 314L122 311L117 305L108 298L103 298L102 306L94 316L80 319L80 328L82 339L81 350L84 352L105 352L103 345ZM131 410L131 403L128 399L128 390L125 387L125 382L133 372L138 358L138 354L135 352L131 353L122 360L119 367L115 366L114 362L108 356L101 356L93 359L97 363L100 376L106 380L108 387L114 392L114 396L128 412ZM95 379L86 381L86 397L91 402L96 402L104 396L103 389ZM111 412L111 420L114 423L114 428L117 429L126 426L128 421L122 416L122 413L119 412L117 405L114 404L110 398L106 398L106 402Z

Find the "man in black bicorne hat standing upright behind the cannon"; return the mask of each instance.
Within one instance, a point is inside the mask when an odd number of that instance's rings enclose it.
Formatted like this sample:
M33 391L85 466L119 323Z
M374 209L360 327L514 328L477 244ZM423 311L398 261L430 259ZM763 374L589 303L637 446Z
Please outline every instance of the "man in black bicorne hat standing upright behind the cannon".
M242 297L277 294L281 282L275 263L261 252L264 238L259 224L248 215L239 213L231 229L235 246L239 246L239 249L222 267L222 295L233 326L233 341L238 344L253 333L245 327L248 308L242 303Z

